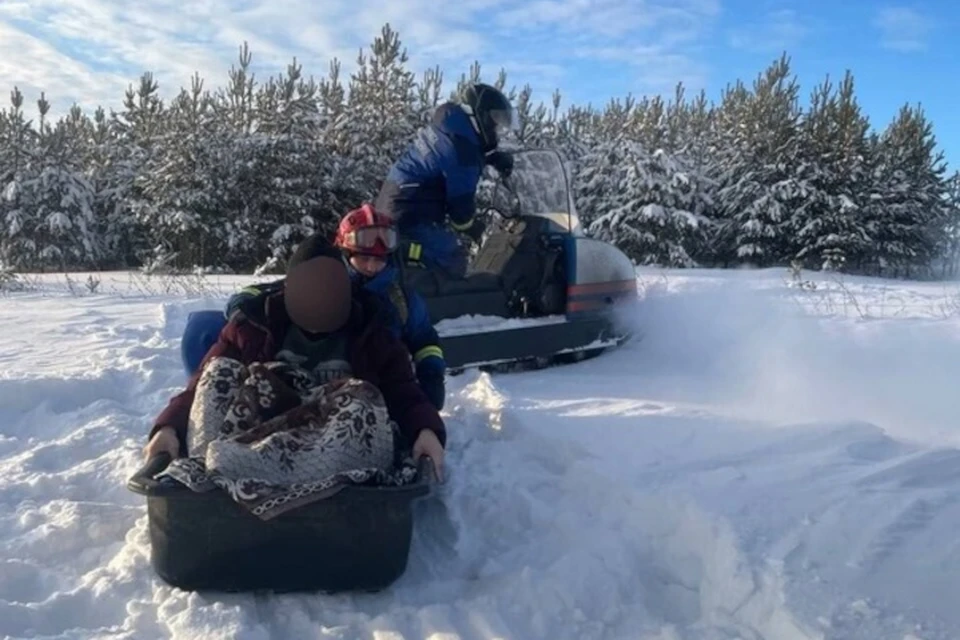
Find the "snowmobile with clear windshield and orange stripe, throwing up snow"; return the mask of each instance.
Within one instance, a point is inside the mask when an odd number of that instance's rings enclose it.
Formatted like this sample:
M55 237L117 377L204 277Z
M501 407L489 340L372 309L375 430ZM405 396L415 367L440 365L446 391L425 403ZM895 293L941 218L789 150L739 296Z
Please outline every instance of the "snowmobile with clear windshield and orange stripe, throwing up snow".
M623 308L638 300L633 263L584 235L556 151L512 155L512 175L494 189L502 229L483 239L467 277L403 270L426 301L451 373L577 361L631 337Z

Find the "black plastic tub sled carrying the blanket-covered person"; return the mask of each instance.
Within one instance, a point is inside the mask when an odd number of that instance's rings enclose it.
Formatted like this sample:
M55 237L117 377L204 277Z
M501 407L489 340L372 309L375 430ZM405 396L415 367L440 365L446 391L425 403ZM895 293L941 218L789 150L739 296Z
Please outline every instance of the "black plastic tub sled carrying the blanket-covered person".
M147 499L150 563L186 591L379 591L406 570L413 501L431 491L429 460L402 487L349 485L263 521L224 491L195 493L151 458L127 483Z

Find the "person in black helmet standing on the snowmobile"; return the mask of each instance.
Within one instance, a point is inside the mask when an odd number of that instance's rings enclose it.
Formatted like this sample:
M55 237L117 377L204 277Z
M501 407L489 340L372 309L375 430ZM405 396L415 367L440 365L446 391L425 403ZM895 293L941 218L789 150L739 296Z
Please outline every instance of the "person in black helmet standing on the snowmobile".
M445 223L449 217L455 231L480 241L477 184L486 165L509 177L513 158L498 146L516 127L510 100L488 84L471 84L459 103L436 109L390 168L375 202L377 211L397 219L406 262L465 276L466 251Z

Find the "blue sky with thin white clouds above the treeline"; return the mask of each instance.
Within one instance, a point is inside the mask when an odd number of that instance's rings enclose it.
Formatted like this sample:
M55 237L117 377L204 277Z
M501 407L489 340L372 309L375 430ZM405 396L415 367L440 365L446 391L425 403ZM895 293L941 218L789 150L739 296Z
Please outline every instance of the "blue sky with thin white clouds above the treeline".
M488 79L502 66L529 83L535 100L559 87L568 103L595 105L670 95L678 81L718 99L786 50L805 100L850 69L875 127L921 103L960 168L960 3L949 0L3 0L0 89L18 85L31 101L45 90L61 112L119 108L144 70L166 95L195 71L224 84L244 40L261 73L293 56L317 76L333 57L349 73L385 22L415 69L439 65L453 80L476 59Z

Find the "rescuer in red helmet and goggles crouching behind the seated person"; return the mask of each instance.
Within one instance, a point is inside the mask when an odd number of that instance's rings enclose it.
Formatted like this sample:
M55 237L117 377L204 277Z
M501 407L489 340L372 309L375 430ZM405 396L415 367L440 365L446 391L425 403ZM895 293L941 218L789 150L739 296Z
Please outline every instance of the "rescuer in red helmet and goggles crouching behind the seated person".
M446 398L447 365L426 302L416 291L400 284L399 271L391 264L398 240L394 220L364 204L340 221L335 244L343 254L354 285L376 293L385 302L387 324L406 344L420 387L439 411ZM283 281L279 280L242 289L227 302L226 317L230 318L247 298L282 286Z

